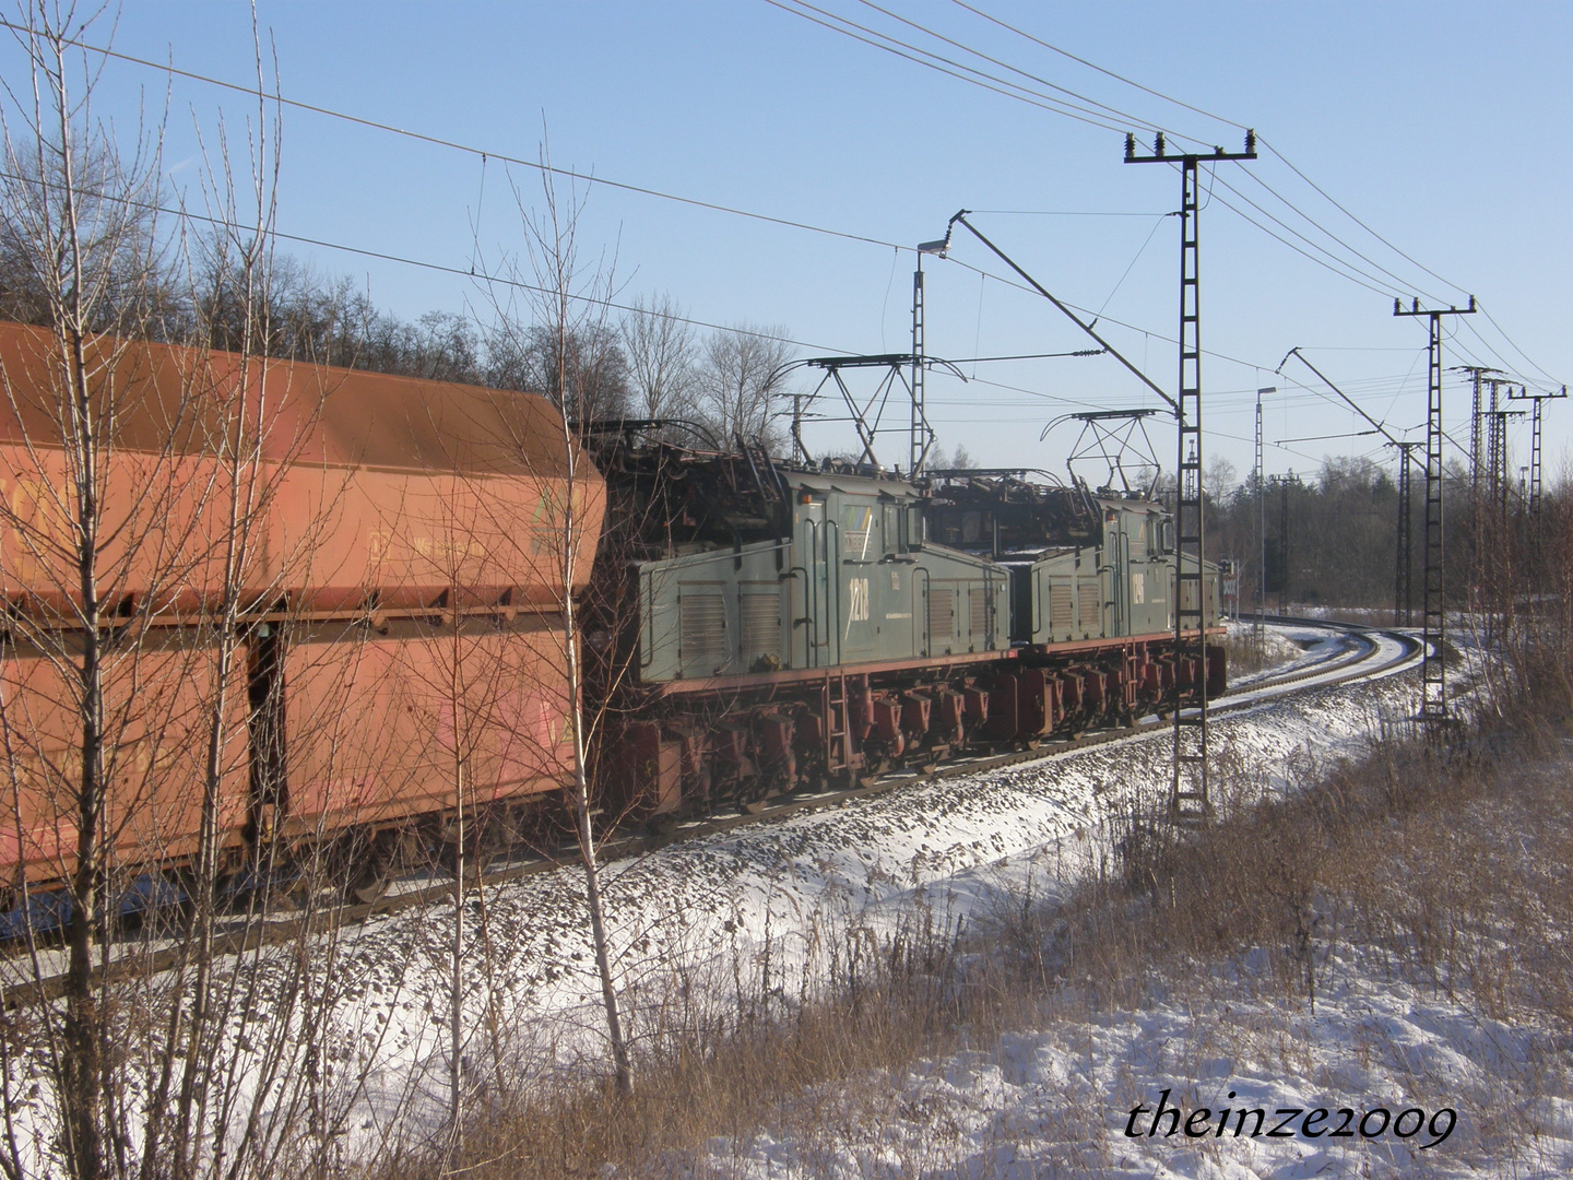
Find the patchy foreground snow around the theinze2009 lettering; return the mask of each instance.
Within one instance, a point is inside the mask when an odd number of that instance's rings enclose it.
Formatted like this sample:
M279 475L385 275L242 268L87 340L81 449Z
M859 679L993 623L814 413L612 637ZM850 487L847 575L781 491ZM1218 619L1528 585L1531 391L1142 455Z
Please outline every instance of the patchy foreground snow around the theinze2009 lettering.
M1394 983L1381 963L1357 952L1328 964L1324 986L1315 1015L1304 1002L1221 986L1202 1004L1188 993L1150 1009L1059 1020L1049 1031L1007 1034L988 1053L963 1051L920 1062L903 1076L820 1087L782 1111L768 1131L713 1141L691 1174L711 1180L1573 1175L1573 1101L1521 1097L1543 1093L1529 1076L1543 1031ZM1169 1117L1147 1134L1164 1090L1167 1103L1181 1108L1181 1120L1195 1117L1195 1138L1183 1130L1166 1134L1178 1123ZM1265 1114L1262 1134L1252 1134L1255 1109ZM1326 1114L1306 1128L1318 1109ZM1280 1134L1271 1136L1276 1128ZM1340 1130L1346 1133L1332 1134Z

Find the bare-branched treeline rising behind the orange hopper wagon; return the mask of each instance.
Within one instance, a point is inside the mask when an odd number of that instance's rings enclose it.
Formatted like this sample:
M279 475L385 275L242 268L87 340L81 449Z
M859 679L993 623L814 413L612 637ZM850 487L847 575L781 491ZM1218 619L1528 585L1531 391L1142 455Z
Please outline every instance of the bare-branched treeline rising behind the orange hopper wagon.
M719 444L783 442L780 370L796 352L785 327L700 332L665 296L617 312L573 301L585 313L566 324L524 323L507 307L404 319L352 278L288 256L244 267L219 242L171 247L142 206L96 197L116 190L120 168L104 151L77 160L82 206L107 227L87 242L87 269L101 283L91 293L93 330L566 396L598 419L692 422ZM41 190L22 187L24 197ZM38 220L25 201L0 208L0 319L55 319L61 288L53 261L36 249Z

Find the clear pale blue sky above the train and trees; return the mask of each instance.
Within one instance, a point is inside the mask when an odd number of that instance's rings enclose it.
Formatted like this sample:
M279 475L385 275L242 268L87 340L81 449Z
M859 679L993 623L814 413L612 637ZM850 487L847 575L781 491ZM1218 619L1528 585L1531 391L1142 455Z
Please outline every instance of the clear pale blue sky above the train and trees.
M860 0L818 3L1044 90ZM1122 115L1106 116L1111 127L1123 131L1134 116L1205 143L1240 146L1236 127L1095 72L953 0L882 0L882 6L1118 109ZM1266 211L1251 209L1219 184L1202 214L1202 343L1222 354L1210 356L1203 370L1205 425L1210 447L1241 474L1251 466L1260 385L1280 390L1269 398L1269 441L1357 428L1348 411L1293 389L1288 378L1315 384L1309 371L1273 374L1296 345L1378 419L1395 428L1424 422L1424 321L1392 318L1394 289L1460 304L1475 294L1529 354L1475 316L1468 326L1449 326L1457 338L1449 341L1447 363L1494 363L1543 385L1573 373L1570 154L1562 146L1573 116L1568 5L978 0L975 6L1144 87L1254 126L1414 260L1372 238L1276 156L1219 168L1218 181ZM1159 385L1175 385L1175 349L1159 337L1175 334L1178 225L1162 214L1177 208L1180 181L1166 167L1123 165L1118 131L945 77L764 0L260 0L258 19L277 50L288 98L491 153L536 159L544 127L552 159L563 167L903 245L938 238L961 206L1052 211L978 212L975 220L1062 299L1103 310L1100 327L1114 343ZM102 44L107 35L101 25L90 39ZM252 77L250 11L238 3L127 0L115 46L242 83ZM6 47L0 68L14 76L14 61ZM110 63L99 115L113 116L124 131L138 102L151 112L164 107L165 85L154 71ZM234 135L249 112L242 96L187 80L170 83L168 109L167 167L175 186L190 184L197 173L193 127L211 143L220 113ZM302 110L283 115L278 223L288 233L467 269L477 241L489 261L521 249L510 179L525 205L538 205L540 178L527 168L510 176L495 160L483 168L473 156L447 148ZM584 195L580 249L591 260L615 258L623 299L665 291L700 321L779 324L805 343L805 354L909 345L911 250L604 186ZM1331 274L1227 205L1324 261L1318 247L1343 269L1373 274L1364 282L1378 289ZM1066 212L1078 216L1060 216ZM322 271L355 275L381 305L401 315L486 302L484 289L464 277L286 249ZM1043 299L966 269L1004 274L975 242L958 239L955 260L926 267L931 354L1087 345ZM980 365L977 376L964 385L936 378L931 417L947 448L961 442L989 464L1057 469L1071 434L1040 444L1049 419L1081 407L1158 404L1107 357ZM1466 437L1468 398L1457 381L1447 411L1450 431ZM1553 470L1573 437L1570 423L1573 404L1548 406ZM1155 428L1166 466L1170 437L1167 426ZM832 445L832 437L818 442ZM1527 463L1527 428L1515 428L1513 444L1515 466ZM1326 453L1373 450L1369 437L1296 442L1269 448L1266 466L1310 470ZM890 458L903 455L904 442L892 437Z

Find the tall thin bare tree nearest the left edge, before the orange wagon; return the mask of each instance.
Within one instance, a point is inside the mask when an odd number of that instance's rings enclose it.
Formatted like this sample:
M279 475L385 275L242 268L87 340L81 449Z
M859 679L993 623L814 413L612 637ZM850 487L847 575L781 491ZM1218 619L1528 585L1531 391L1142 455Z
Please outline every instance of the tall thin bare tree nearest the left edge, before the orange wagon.
M17 41L28 57L28 93L8 88L5 112L5 208L8 269L25 282L8 293L16 313L42 324L28 356L8 357L3 384L11 470L8 486L27 489L0 505L9 538L6 582L30 585L38 609L14 621L39 653L38 677L55 680L57 706L69 716L69 755L41 757L24 780L13 758L13 799L24 812L57 810L69 843L31 850L53 857L68 881L66 1002L58 1037L49 1037L50 1073L61 1109L61 1141L76 1177L98 1177L105 1164L105 1073L110 1023L94 990L94 952L110 922L110 784L123 766L127 724L137 724L135 691L143 673L140 643L120 642L115 615L138 592L157 601L181 554L162 568L137 562L157 552L160 491L175 474L179 420L146 441L142 470L124 481L112 474L127 417L140 390L113 374L129 341L154 326L153 291L162 269L157 208L160 135L143 132L121 157L93 126L91 87L72 90L72 38L82 20L72 8L33 5ZM115 475L121 478L115 478ZM124 497L124 499L123 499ZM145 595L149 582L153 593ZM134 612L146 615L146 606ZM22 736L38 736L30 719L13 713ZM13 730L14 732L14 730ZM35 743L35 749L38 749ZM58 806L53 801L69 801ZM22 850L25 862L28 850ZM19 865L20 894L27 870ZM50 1021L49 1032L55 1027Z

